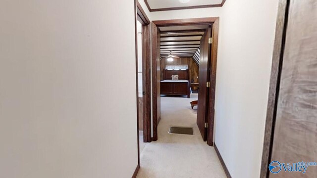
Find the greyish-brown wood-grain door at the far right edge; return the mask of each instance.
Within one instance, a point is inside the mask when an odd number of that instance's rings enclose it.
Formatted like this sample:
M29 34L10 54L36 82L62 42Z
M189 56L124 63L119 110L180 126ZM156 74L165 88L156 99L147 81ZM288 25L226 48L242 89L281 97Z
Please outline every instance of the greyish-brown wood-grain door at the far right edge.
M270 161L317 161L317 0L290 0ZM272 169L279 170L279 166ZM269 178L316 178L317 166Z

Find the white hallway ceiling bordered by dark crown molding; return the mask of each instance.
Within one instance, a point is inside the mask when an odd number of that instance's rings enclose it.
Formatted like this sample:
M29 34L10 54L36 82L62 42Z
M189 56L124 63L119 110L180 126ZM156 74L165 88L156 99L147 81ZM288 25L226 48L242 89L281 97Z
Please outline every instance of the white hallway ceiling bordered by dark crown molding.
M188 7L197 5L215 5L221 4L222 0L187 0L187 3L182 3L182 0L147 0L151 9L171 8L171 7ZM186 1L186 0L184 0Z

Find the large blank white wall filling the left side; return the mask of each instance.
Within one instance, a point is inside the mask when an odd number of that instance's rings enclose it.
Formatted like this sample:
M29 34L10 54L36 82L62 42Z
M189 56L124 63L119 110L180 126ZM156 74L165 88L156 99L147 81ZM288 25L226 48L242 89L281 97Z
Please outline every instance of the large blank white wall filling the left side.
M1 0L0 24L0 177L131 178L134 1Z

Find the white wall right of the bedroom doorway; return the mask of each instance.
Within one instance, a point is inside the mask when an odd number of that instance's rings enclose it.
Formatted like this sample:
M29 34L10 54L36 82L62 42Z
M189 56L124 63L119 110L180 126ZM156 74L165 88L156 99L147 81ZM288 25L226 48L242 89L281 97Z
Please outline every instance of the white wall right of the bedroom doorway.
M215 119L232 178L259 178L277 0L227 0L220 18Z

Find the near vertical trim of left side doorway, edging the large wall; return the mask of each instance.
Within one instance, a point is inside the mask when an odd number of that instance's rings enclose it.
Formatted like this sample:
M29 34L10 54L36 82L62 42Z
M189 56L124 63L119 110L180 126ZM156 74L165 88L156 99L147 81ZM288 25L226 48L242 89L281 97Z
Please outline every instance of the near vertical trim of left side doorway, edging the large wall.
M140 166L140 136L139 136L139 92L138 92L138 29L137 29L137 0L134 0L134 36L135 36L135 73L136 73L136 105L137 105L137 147L138 147L138 166Z

